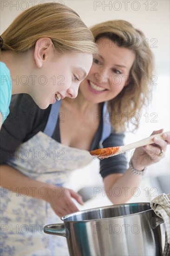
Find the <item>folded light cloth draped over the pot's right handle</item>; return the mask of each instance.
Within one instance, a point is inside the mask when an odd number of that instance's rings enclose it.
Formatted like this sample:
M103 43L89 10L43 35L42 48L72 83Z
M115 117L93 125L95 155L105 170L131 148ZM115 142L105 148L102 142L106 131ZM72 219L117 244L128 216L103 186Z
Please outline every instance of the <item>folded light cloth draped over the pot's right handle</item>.
M163 219L165 223L165 247L163 256L170 255L170 194L161 194L155 197L150 202L151 209L154 210L157 216Z

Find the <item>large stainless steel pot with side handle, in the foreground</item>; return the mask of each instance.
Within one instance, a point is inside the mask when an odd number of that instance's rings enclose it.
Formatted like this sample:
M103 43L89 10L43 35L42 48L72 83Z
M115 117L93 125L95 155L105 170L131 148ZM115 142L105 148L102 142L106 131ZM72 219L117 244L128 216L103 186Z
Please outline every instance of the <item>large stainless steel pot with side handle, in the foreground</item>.
M44 227L65 236L71 256L161 256L163 220L150 203L129 203L79 211Z

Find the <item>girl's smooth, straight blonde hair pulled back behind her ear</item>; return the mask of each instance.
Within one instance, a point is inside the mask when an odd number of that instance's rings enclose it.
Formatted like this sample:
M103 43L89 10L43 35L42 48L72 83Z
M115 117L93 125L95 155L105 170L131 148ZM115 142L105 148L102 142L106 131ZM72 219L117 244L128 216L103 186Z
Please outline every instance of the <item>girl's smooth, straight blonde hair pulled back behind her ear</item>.
M49 37L56 50L66 52L97 52L89 28L71 8L59 3L44 3L22 12L1 34L1 50L25 52L36 41Z

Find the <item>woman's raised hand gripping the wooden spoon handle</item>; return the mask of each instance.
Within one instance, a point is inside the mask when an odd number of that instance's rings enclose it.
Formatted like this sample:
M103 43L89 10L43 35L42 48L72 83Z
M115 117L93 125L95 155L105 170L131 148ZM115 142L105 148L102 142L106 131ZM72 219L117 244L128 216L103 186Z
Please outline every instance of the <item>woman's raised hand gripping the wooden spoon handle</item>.
M162 133L163 129L154 131L151 135ZM167 145L170 144L170 135L164 133L163 139L153 138L153 144L136 148L132 157L133 167L139 171L152 163L159 162L166 151Z

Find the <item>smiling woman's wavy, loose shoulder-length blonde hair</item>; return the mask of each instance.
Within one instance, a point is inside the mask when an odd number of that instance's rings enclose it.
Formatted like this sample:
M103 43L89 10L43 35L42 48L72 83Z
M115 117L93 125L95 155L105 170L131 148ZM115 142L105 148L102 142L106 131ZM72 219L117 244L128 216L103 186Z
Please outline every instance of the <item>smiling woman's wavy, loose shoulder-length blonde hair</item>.
M142 107L150 102L151 97L153 55L150 47L144 41L146 39L144 34L125 20L99 23L93 26L91 31L95 41L106 37L111 39L117 47L128 48L136 54L128 85L114 99L108 101L111 124L115 132L124 132L126 128L130 129L130 124L135 130L138 128L138 118ZM116 113L121 115L119 121L112 118ZM137 114L135 115L135 113Z

